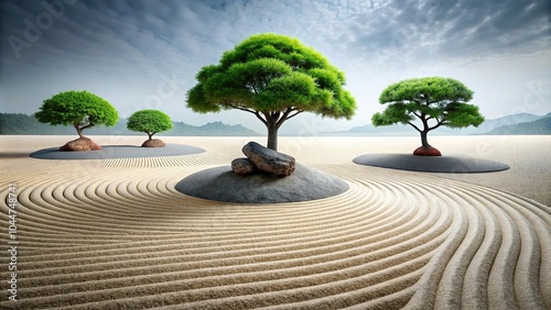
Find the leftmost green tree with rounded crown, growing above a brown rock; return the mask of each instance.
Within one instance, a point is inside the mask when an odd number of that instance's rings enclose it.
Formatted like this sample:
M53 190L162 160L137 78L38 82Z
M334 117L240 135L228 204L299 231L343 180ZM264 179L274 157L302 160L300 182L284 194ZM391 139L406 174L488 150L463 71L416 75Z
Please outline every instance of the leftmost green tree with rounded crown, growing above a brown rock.
M73 125L80 137L83 131L97 125L112 126L119 114L105 99L83 91L64 91L44 100L34 117L41 123L52 125Z

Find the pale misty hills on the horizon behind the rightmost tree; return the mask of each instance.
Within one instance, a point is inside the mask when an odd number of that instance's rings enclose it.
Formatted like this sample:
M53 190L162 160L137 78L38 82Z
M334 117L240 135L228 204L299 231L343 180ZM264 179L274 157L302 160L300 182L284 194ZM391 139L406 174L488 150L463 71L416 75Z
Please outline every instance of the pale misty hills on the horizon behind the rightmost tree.
M410 125L391 125L376 128L371 124L355 126L347 131L325 132L322 135L418 135L419 133ZM507 135L545 135L551 134L551 113L547 115L534 115L518 113L486 120L478 128L466 129L439 128L431 131L431 135L469 135L469 134L507 134Z

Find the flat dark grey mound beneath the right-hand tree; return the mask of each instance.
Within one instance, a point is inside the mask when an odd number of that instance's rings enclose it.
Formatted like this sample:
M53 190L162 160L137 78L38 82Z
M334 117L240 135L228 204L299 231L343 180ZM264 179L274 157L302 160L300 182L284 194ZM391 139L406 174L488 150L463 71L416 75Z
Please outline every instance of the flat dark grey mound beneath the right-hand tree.
M476 174L509 168L498 162L466 156L415 156L410 154L366 154L354 158L358 165L424 173Z

